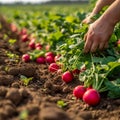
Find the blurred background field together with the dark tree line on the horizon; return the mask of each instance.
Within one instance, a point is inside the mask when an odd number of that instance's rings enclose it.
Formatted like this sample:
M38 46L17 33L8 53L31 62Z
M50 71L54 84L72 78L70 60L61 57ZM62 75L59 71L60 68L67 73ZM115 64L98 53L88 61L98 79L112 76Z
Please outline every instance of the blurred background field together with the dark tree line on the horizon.
M72 13L75 12L88 12L90 11L91 4L88 1L85 2L48 2L48 3L23 3L23 2L13 2L12 4L0 4L0 13L10 17L12 14L17 12L22 12L21 14L26 14L29 12L51 12L51 13Z

